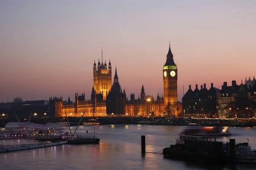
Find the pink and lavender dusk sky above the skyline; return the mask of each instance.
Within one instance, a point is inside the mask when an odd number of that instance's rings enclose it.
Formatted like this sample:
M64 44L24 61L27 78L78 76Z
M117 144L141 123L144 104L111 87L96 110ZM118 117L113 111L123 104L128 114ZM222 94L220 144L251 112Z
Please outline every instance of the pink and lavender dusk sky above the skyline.
M1 0L0 102L84 92L111 59L128 98L163 95L171 44L178 100L189 85L256 76L256 0ZM112 77L114 74L112 73Z

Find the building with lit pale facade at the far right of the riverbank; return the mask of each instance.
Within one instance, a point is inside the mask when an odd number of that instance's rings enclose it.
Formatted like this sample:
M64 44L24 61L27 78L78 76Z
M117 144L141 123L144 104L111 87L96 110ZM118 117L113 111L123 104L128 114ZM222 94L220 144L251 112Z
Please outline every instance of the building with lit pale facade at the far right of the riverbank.
M231 86L224 82L217 92L218 116L223 118L251 118L256 116L256 80L245 79L240 85L232 81Z

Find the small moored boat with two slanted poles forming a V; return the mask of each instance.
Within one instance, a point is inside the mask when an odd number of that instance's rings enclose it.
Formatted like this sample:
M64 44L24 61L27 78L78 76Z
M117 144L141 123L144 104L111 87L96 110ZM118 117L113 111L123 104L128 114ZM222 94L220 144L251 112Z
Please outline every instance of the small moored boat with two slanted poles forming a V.
M76 130L78 128L78 126L81 123L82 117L84 116L84 113L82 114L78 125L76 126ZM67 117L67 113L66 113L66 117ZM98 144L99 143L99 138L97 138L97 136L95 136L95 126L94 126L94 135L93 136L88 136L88 135L75 135L76 134L76 130L74 131L74 133L72 134L71 129L70 129L70 124L67 118L67 122L68 122L68 127L70 130L69 132L66 132L64 136L62 136L62 140L67 141L68 144ZM88 133L88 131L87 131Z

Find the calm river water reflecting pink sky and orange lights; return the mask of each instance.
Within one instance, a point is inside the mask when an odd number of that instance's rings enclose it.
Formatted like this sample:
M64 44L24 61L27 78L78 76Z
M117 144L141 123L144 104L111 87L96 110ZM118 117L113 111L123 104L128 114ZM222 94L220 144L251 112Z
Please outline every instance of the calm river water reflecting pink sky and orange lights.
M68 131L68 127L65 127ZM71 127L72 130L76 127ZM79 126L77 133L93 134L94 126ZM175 144L175 137L186 127L157 125L96 125L99 144L45 147L0 153L0 166L5 170L244 170L256 164L216 165L176 161L163 158L162 149ZM236 139L256 149L256 127L229 127L233 135L220 141ZM146 153L142 156L140 138L145 135ZM38 144L37 140L1 141L0 147Z

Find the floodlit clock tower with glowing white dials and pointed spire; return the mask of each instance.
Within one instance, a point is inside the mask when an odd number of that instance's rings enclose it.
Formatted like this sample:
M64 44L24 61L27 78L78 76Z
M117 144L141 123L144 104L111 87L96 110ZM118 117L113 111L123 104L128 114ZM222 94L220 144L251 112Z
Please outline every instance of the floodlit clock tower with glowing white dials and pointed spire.
M163 99L165 113L168 116L175 115L177 117L177 65L173 60L171 47L169 44L169 51L166 55L166 63L163 66Z

